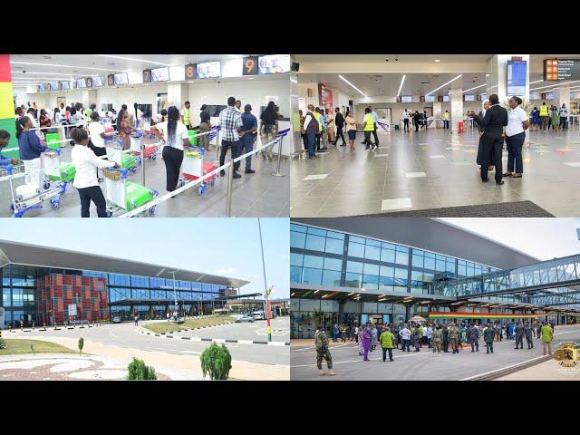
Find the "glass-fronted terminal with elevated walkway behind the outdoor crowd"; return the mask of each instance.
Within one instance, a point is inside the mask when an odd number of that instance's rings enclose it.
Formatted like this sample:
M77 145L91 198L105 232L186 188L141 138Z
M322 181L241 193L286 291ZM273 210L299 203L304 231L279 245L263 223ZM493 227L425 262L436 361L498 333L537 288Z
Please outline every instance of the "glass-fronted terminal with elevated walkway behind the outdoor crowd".
M292 218L290 231L291 338L436 312L580 313L580 257L540 262L430 218Z

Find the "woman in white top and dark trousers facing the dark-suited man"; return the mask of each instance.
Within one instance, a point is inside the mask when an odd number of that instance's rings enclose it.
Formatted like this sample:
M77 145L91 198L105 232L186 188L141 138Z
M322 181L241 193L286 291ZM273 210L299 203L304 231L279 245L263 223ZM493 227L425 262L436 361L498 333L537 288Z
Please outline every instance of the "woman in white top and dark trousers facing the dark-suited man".
M512 179L521 179L524 172L524 160L522 159L522 147L526 140L526 130L529 127L529 118L526 111L519 105L522 99L511 97L509 99L509 108L507 113L506 127L506 144L507 144L507 172L504 177ZM516 172L514 172L514 163Z

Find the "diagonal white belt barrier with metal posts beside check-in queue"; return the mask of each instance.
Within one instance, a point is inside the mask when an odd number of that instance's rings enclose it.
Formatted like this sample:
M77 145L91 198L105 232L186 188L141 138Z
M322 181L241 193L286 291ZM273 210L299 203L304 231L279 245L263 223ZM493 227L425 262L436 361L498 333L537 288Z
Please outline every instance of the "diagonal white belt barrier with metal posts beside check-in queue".
M142 212L144 212L152 207L159 205L161 202L164 202L164 201L168 200L169 198L173 198L176 195L179 195L179 193L181 193L181 192L184 192L188 189L191 189L191 188L198 186L200 183L203 183L206 179L210 179L210 178L216 176L219 171L225 170L227 168L229 168L228 182L227 182L227 217L228 218L231 217L232 180L233 180L233 175L234 175L234 171L232 170L232 166L234 165L234 163L236 163L237 161L240 161L240 160L244 160L247 157L254 155L262 150L266 150L266 148L274 146L275 143L281 143L282 138L285 137L289 131L290 131L290 129L286 129L284 131L279 131L278 137L275 138L275 140L272 140L271 142L268 142L265 145L262 145L260 148L257 148L256 150L252 150L250 152L247 152L246 154L243 154L243 155L237 157L236 159L230 159L224 165L212 170L211 172L208 172L207 174L203 175L202 177L199 177L198 179L196 179L194 181L190 181L185 186L182 186L179 189L175 189L172 192L169 192L169 193L163 195L162 197L155 198L152 201L148 202L147 204L140 206L139 208L134 208L130 212L122 214L121 216L119 216L119 218L132 218L134 216L137 216L140 213L142 213ZM218 133L218 130L216 130L215 132ZM208 131L207 133L210 133L210 131ZM202 134L204 134L204 133L202 133ZM282 147L281 146L279 147L278 154L279 154L279 156L278 156L278 160L279 160L280 154L282 154ZM279 167L279 163L278 163L278 167ZM278 169L278 173L279 173L279 169Z

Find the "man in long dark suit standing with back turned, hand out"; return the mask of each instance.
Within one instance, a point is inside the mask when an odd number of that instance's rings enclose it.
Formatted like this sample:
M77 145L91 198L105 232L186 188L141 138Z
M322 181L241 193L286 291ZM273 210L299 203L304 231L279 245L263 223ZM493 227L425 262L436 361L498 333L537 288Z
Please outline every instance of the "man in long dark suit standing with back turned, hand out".
M504 127L507 126L507 110L499 105L498 95L495 93L489 95L491 107L486 111L486 116L479 117L474 111L469 116L483 128L481 136L482 155L481 155L481 181L486 182L488 178L489 165L496 167L496 184L502 185L503 169L501 166L501 153L504 145Z

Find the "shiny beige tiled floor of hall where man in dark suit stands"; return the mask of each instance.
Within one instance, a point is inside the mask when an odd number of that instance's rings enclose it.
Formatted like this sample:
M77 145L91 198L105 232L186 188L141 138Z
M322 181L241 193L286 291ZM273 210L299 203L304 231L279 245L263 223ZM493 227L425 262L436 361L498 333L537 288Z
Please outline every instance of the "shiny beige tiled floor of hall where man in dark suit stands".
M529 135L524 177L497 186L493 172L488 183L479 178L477 131L380 132L376 151L364 150L359 132L355 151L331 144L317 160L291 162L290 216L332 218L523 200L556 217L578 216L580 131ZM507 150L503 163L505 171Z

